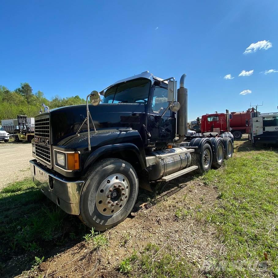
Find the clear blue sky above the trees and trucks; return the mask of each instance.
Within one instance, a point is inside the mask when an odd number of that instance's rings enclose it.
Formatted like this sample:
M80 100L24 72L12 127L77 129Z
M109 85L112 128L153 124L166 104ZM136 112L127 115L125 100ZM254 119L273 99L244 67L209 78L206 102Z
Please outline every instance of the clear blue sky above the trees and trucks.
M149 70L187 74L190 120L250 102L277 111L278 72L264 73L278 71L276 0L1 1L0 9L0 85L10 90L28 82L47 98L85 97ZM265 49L243 54L259 41Z

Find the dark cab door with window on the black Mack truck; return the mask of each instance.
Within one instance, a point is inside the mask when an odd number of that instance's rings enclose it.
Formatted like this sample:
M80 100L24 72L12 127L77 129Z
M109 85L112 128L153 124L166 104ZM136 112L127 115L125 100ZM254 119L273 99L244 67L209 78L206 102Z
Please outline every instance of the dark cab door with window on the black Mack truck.
M170 109L162 116L168 107L167 86L161 84L152 88L149 115L148 131L151 134L149 145L167 146L175 137L175 113Z

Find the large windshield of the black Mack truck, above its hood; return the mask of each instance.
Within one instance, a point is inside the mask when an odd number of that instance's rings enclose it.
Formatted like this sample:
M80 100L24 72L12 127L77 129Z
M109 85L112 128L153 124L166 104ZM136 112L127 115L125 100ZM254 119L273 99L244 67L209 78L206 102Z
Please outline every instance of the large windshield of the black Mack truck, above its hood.
M116 84L104 93L103 103L142 103L148 101L150 81L138 78Z

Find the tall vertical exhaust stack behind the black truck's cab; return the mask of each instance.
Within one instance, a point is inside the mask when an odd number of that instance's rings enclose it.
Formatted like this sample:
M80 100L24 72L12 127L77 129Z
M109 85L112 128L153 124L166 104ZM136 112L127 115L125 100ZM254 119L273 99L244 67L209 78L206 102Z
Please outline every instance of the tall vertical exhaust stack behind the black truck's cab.
M182 74L182 77L179 82L179 89L178 89L178 102L181 105L181 108L178 111L178 140L175 142L176 144L181 143L184 140L184 137L187 134L187 105L188 105L188 92L187 89L184 87L186 74Z

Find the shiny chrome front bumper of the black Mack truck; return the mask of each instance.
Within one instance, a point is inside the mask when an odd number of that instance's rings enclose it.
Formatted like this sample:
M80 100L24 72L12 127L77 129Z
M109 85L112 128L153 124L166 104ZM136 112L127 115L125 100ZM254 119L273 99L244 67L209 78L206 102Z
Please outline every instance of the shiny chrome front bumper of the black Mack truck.
M84 181L66 181L38 166L30 160L33 182L51 201L69 214L79 215L79 199Z

